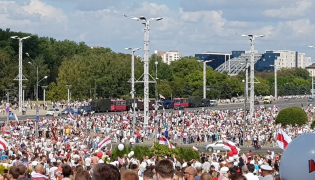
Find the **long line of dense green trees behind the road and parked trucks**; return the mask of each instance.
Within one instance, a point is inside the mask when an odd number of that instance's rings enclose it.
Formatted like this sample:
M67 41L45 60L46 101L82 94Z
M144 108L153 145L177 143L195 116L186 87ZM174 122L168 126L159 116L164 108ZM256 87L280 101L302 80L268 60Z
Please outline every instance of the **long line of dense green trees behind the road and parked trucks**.
M13 80L18 74L18 40L10 38L17 35L31 35L0 29L0 95L9 91L11 98L18 94L18 81ZM84 42L56 40L52 37L33 35L23 41L23 81L25 99L34 99L36 68L29 65L31 61L25 52L38 65L38 78L48 76L39 84L39 99L42 100L41 85L48 85L46 100L67 98L65 85L71 85L71 99L87 98L124 98L129 97L131 84L131 54L113 52L107 48L90 48ZM166 98L202 96L203 64L192 56L182 57L167 65L161 57L156 58L157 90ZM135 78L143 73L143 62L134 58ZM155 54L149 57L149 73L155 77ZM245 74L236 76L214 71L206 67L206 97L210 99L230 98L244 93ZM256 95L274 94L273 71L255 72L260 83L255 84ZM307 70L301 68L279 69L277 71L278 95L305 94L310 92L311 77ZM136 96L143 96L143 83L135 83ZM155 84L149 84L149 96L155 96ZM3 97L4 98L4 97Z

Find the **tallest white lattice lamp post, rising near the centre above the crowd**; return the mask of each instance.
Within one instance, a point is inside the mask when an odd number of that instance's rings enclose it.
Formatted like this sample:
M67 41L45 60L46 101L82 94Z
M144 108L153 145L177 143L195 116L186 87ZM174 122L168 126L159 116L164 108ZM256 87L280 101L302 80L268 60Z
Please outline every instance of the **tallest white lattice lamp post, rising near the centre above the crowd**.
M124 15L124 16L127 16L127 15ZM149 51L149 40L148 40L148 35L149 35L149 22L152 21L152 20L161 20L163 18L161 17L151 17L149 19L146 19L145 17L143 16L139 16L139 17L133 17L131 16L131 19L133 20L141 20L141 21L144 21L144 59L143 59L143 62L144 62L144 65L143 65L143 74L140 76L140 78L143 77L142 80L137 80L137 82L143 82L144 83L144 101L143 101L143 105L144 105L144 109L143 109L143 112L144 112L144 124L148 124L148 95L149 95L149 88L148 88L148 83L154 83L154 81L150 81L149 80L149 77L152 78L152 76L149 74L148 72L148 63L149 63L149 60L148 60L148 57L149 57L149 54L148 54L148 51Z

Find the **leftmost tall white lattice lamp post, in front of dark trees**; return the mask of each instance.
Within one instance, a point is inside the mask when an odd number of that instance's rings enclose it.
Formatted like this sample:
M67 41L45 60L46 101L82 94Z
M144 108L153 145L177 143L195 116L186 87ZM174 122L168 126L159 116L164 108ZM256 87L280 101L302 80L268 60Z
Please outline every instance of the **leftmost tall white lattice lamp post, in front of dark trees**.
M18 36L11 36L11 38L13 39L18 39L19 40L19 48L18 48L18 75L14 78L14 80L18 80L18 111L21 112L22 111L22 80L27 80L25 78L25 76L23 75L23 71L22 71L22 49L23 49L23 40L30 38L31 35L26 36L26 37L18 37Z

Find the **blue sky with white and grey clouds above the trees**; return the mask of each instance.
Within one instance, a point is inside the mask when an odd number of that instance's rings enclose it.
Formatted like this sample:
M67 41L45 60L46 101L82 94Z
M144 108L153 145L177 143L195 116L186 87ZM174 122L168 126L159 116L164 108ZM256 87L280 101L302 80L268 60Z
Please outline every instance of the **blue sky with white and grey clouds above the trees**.
M314 0L0 0L0 28L110 47L143 46L143 25L123 17L163 17L150 23L150 53L248 50L234 32L265 34L255 49L305 52L315 59ZM143 56L143 51L137 51Z

